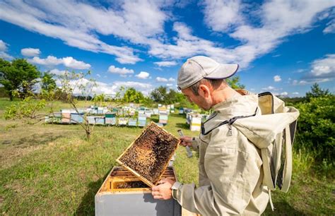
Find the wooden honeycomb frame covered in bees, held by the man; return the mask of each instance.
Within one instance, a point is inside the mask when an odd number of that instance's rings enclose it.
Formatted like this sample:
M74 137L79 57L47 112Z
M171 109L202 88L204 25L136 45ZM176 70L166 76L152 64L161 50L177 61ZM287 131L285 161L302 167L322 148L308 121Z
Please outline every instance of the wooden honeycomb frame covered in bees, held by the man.
M148 186L155 186L163 175L180 140L151 122L117 162Z

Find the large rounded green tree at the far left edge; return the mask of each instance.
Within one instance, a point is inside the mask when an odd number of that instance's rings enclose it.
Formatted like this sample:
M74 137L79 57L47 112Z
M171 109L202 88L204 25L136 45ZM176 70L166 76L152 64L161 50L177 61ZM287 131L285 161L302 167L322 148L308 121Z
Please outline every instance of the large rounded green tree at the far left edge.
M33 85L40 78L40 71L25 59L15 59L12 62L0 59L0 83L4 85L10 100L13 92L18 91L20 97L27 97L33 92Z

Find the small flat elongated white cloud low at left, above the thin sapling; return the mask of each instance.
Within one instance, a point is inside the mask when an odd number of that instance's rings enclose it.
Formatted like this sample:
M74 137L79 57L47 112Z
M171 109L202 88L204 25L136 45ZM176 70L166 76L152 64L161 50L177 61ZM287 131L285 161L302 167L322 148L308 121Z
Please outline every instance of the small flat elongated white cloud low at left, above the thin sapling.
M90 64L86 64L83 61L77 61L71 56L64 57L61 59L58 59L55 56L47 56L47 59L40 59L40 57L35 56L33 59L28 59L30 63L33 64L41 64L41 65L46 65L46 66L55 66L59 64L63 64L64 66L68 68L73 68L73 69L88 69L90 68Z

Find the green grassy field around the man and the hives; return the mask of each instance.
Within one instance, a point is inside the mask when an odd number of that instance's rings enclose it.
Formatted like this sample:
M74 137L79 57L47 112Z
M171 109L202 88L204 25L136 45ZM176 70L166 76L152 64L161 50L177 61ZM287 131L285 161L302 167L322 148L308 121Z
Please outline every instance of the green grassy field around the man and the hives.
M2 117L0 99L0 211L3 215L94 215L94 196L115 159L143 128L95 126L91 140L76 125L25 124ZM57 107L68 107L57 103ZM157 121L157 117L153 118ZM184 116L170 114L165 130L189 131ZM194 152L196 155L196 152ZM295 152L288 193L272 193L265 215L334 215L333 175L311 169L312 156ZM184 183L197 182L197 157L177 149L175 169ZM328 177L327 177L328 176Z

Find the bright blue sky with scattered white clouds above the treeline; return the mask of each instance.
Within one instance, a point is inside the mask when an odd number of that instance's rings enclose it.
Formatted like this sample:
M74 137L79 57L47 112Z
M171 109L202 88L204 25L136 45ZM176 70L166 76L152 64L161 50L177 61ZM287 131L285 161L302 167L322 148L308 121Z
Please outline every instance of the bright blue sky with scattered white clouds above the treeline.
M335 1L4 1L0 57L40 71L92 72L96 93L177 90L195 55L240 64L252 92L335 92Z

